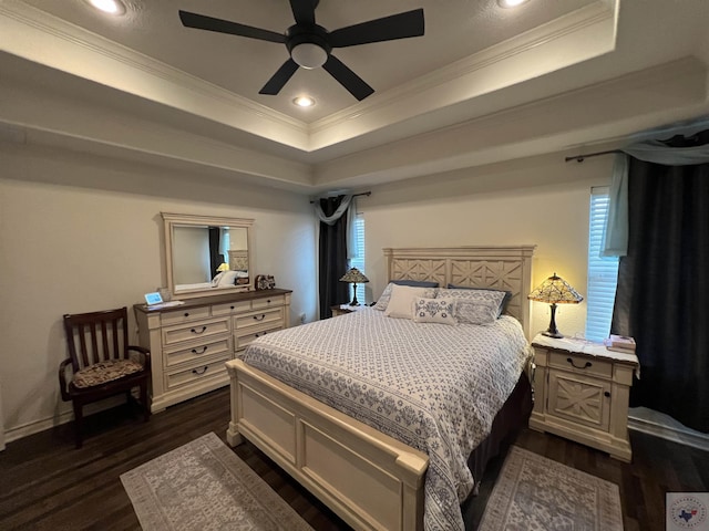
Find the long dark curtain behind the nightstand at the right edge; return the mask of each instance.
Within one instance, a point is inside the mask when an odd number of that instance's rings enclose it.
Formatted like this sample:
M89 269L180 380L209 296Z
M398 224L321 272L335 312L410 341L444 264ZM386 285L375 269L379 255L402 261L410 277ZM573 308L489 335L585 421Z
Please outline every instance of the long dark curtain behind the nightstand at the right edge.
M703 138L701 138L703 140ZM681 139L675 139L681 142ZM637 342L630 406L709 433L709 164L630 158L612 332Z

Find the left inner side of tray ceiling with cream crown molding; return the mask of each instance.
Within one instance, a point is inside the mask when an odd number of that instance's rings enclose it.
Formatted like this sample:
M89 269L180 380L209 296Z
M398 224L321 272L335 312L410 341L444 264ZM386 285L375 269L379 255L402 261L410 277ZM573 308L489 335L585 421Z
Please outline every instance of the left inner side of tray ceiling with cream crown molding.
M0 49L291 147L305 149L308 144L304 122L20 0L0 2Z

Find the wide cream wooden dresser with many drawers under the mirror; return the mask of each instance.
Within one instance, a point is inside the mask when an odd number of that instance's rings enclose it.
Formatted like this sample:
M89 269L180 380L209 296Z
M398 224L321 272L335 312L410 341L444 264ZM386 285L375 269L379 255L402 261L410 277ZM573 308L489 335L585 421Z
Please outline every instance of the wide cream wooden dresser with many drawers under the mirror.
M229 383L225 362L256 337L290 325L290 290L188 299L178 306L135 304L141 346L152 354L151 410Z

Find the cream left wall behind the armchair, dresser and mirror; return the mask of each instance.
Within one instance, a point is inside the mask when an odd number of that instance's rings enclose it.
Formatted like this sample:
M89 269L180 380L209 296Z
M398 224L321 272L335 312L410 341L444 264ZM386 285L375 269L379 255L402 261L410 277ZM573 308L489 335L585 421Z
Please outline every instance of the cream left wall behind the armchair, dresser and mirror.
M256 273L294 289L291 322L301 312L316 319L316 222L307 197L68 150L0 144L0 160L8 440L71 418L59 396L62 314L131 308L165 285L161 211L254 218Z

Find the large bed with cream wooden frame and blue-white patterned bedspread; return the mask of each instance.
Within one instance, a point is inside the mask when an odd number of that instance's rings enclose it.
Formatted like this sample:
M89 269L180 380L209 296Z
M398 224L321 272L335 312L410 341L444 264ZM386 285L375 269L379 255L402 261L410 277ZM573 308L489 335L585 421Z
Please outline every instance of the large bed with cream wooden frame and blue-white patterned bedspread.
M256 341L245 360L227 363L229 444L248 438L356 529L463 529L460 502L531 405L523 368L532 252L532 246L386 249L389 279L508 291L508 315L493 325L448 326L364 309ZM516 354L495 357L507 336ZM455 353L476 343L492 347L460 358L432 354L436 345ZM319 364L304 356L319 356ZM391 361L408 356L420 369L394 376ZM454 385L469 394L444 387L473 373L486 377ZM424 395L445 399L430 406ZM469 425L477 429L466 433Z

